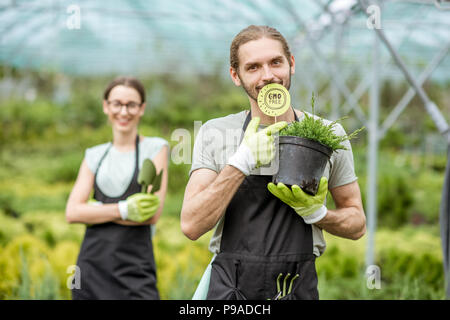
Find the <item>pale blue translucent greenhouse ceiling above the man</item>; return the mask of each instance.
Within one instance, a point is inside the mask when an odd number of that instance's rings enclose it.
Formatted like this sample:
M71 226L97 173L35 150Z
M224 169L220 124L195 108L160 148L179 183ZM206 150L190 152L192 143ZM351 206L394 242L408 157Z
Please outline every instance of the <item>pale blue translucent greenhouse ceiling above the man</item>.
M380 8L381 28L412 70L448 46L448 2L365 3ZM227 68L242 28L266 24L285 35L300 69L317 58L313 41L323 59L364 72L375 37L368 19L356 0L0 0L0 64L82 75L211 73ZM380 54L384 75L395 75L389 52ZM449 67L447 55L432 78L448 80Z

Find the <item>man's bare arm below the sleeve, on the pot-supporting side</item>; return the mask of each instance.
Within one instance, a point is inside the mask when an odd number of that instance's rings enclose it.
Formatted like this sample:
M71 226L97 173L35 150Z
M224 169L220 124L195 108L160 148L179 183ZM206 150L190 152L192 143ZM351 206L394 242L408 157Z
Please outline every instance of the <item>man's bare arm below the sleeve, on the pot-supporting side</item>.
M315 225L339 237L361 238L366 233L366 217L358 182L333 188L330 193L336 210L328 210L327 215Z

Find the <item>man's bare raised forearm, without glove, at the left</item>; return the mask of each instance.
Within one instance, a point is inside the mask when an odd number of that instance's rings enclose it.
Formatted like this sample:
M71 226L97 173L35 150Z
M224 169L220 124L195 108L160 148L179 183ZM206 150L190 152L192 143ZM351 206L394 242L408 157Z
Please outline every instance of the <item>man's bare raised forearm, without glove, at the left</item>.
M195 170L186 186L181 209L181 230L197 240L214 228L244 181L245 175L226 165L217 174L210 169Z

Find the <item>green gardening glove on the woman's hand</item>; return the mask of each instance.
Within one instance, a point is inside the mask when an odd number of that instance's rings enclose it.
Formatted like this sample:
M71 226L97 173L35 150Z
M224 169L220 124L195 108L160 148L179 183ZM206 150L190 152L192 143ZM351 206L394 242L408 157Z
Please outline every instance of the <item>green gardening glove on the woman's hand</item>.
M150 219L159 207L159 198L151 193L135 193L126 200L119 201L122 220L143 222Z

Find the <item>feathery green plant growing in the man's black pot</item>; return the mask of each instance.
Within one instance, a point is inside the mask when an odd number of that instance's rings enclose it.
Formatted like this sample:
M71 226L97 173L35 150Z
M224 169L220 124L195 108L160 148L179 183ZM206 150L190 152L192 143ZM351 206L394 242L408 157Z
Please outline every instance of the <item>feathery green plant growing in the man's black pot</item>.
M334 132L334 125L344 118L340 118L326 125L321 118L315 117L314 93L311 97L311 107L312 116L305 112L305 119L300 122L294 121L290 123L287 127L280 131L280 136L295 136L318 141L321 144L331 148L333 151L336 151L338 149L346 150L347 148L341 143L356 137L360 131L364 130L364 127L362 127L355 130L350 135L339 136Z

